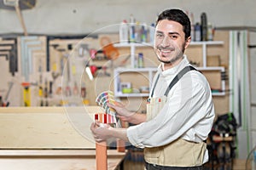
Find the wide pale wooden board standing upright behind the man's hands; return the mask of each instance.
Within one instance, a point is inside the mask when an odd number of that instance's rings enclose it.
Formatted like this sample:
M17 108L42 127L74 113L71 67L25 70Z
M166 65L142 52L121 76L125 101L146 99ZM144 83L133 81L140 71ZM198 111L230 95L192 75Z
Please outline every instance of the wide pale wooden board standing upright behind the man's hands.
M99 111L97 106L0 108L0 148L95 149L90 123Z

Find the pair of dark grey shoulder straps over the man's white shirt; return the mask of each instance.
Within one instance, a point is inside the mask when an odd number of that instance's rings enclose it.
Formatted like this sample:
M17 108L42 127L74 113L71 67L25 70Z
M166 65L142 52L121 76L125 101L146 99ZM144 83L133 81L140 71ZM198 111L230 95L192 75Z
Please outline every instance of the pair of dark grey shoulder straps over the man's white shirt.
M197 71L195 69L195 67L189 65L189 66L186 66L183 68L183 70L179 71L176 75L176 77L173 78L172 82L169 84L168 88L166 89L166 93L165 93L165 96L167 96L170 92L170 90L172 89L172 87L177 83L177 81L179 79L181 79L181 77L183 77L184 74L186 74L188 71ZM156 84L159 80L159 77L160 77L160 74L156 77L156 80L154 82L154 87L152 88L152 92L151 92L151 95L150 97L152 98L153 97L153 94L154 94L154 88L156 87Z

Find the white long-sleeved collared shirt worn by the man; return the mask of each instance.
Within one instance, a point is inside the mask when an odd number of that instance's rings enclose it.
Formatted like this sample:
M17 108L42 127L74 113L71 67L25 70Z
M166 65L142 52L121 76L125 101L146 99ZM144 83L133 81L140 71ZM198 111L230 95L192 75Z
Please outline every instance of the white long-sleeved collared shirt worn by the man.
M160 78L153 97L163 96L172 79L187 65L184 55L181 63L171 69L162 71L159 67L155 75L160 74ZM199 71L189 71L172 87L160 113L148 122L128 127L127 137L140 148L169 144L180 137L201 142L207 139L214 116L207 79Z

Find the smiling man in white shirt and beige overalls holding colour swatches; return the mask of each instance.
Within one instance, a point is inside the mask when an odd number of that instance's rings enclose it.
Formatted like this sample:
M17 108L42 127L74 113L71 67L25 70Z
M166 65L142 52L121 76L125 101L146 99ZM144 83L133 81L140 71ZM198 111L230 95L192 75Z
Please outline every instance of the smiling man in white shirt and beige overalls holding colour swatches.
M144 149L147 169L203 169L208 161L207 139L214 108L207 79L193 67L184 51L189 47L190 21L180 9L163 11L156 21L154 51L160 66L154 77L147 114L110 105L128 128L90 129L97 142L114 137Z

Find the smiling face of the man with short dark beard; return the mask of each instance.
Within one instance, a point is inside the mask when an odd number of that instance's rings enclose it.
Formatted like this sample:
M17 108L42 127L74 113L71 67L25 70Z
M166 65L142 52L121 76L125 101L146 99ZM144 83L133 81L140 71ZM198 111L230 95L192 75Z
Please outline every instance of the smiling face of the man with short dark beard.
M185 40L183 26L176 21L160 20L155 28L154 52L166 66L177 65L183 59L183 52L189 46Z

